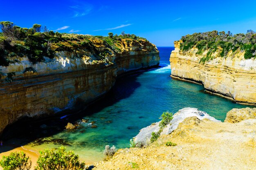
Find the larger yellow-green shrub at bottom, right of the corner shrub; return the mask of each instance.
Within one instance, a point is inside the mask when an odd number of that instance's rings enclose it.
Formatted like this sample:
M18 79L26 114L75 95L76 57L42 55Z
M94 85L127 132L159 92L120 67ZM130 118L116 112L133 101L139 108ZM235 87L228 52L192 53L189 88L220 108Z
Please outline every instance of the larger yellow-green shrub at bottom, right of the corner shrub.
M35 170L83 170L85 163L79 161L79 156L65 147L45 149L40 151Z

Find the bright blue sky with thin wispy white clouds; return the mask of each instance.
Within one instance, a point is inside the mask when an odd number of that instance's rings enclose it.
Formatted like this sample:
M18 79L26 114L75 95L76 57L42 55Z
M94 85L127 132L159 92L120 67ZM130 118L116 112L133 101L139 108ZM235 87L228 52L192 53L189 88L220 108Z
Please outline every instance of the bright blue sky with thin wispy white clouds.
M61 33L135 34L157 46L205 31L256 31L255 0L7 0L0 21L47 26Z

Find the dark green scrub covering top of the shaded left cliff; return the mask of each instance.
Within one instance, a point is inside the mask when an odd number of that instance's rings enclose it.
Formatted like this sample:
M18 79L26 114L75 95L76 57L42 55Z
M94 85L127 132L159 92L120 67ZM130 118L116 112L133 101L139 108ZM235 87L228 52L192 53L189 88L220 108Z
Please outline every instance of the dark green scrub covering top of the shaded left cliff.
M31 62L43 61L44 57L54 58L56 52L72 52L77 57L79 51L91 52L99 57L125 53L123 47L149 44L145 38L126 34L108 37L68 34L49 31L45 26L34 24L32 28L21 28L13 22L0 22L0 65L8 66L9 57L27 56ZM105 51L99 51L97 47L107 47Z

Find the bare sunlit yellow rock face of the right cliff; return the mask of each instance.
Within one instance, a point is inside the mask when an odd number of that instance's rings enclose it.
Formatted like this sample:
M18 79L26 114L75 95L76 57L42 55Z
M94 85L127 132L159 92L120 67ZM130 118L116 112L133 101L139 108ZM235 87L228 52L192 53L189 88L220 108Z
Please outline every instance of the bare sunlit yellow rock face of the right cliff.
M219 94L238 103L256 105L256 60L244 59L241 51L230 51L220 57L221 49L214 59L200 63L207 55L196 54L197 48L186 53L180 51L180 41L175 41L175 50L170 57L171 76L181 80L202 83L207 91Z

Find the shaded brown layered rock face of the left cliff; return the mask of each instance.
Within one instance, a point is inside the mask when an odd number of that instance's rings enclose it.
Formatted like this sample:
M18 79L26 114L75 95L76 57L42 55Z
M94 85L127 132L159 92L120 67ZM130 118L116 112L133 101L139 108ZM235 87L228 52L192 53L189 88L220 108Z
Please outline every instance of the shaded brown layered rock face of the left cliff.
M84 107L108 92L118 74L159 64L158 50L149 42L124 45L119 53L100 41L94 47L108 54L62 51L37 63L10 57L9 66L0 66L0 134L22 117Z

